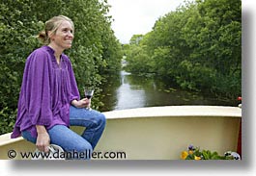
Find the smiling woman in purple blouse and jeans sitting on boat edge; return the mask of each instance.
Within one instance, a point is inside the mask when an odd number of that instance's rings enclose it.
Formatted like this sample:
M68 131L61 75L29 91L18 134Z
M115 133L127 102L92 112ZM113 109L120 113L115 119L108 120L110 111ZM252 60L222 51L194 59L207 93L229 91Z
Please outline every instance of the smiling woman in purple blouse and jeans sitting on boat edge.
M52 17L39 35L45 45L25 64L12 138L21 135L43 152L53 143L65 151L92 153L105 127L102 113L86 110L91 101L80 99L70 59L63 53L71 48L73 33L69 17ZM86 130L79 136L71 125Z

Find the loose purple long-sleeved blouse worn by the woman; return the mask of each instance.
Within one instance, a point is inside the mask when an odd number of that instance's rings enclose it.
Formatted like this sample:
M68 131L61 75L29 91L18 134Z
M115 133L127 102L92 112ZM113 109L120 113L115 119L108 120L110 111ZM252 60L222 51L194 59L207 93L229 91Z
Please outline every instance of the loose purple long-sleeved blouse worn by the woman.
M80 96L68 56L62 54L58 64L49 46L35 50L25 64L11 137L28 130L36 138L36 125L44 125L47 130L57 124L69 126L74 99Z

